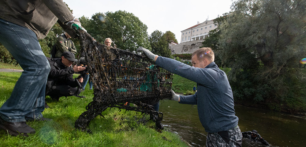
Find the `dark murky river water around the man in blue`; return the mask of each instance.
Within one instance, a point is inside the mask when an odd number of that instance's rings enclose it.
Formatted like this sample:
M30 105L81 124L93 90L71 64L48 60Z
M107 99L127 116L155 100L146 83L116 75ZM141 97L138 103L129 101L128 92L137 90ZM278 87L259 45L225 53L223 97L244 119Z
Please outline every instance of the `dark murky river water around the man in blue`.
M257 130L270 147L306 147L306 117L235 106L241 132ZM200 123L197 106L179 104L172 100L161 100L159 111L163 113L162 124L181 136L191 146L204 146L207 132ZM243 139L243 147L264 146Z

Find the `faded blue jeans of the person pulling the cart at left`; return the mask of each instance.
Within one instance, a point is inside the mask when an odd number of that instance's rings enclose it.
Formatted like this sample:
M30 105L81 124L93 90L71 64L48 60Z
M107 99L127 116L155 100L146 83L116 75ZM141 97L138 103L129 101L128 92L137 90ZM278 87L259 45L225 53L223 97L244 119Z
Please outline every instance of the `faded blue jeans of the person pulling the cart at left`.
M0 117L7 122L42 117L50 65L36 34L28 28L0 18L0 42L24 70L11 96L0 108Z

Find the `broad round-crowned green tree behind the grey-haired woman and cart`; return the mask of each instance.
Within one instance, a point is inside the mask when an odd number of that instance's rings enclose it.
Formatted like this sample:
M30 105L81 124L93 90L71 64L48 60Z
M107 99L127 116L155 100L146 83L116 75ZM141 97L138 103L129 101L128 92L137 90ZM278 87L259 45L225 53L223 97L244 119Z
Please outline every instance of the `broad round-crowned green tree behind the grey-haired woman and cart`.
M98 42L111 38L118 48L136 51L140 46L151 49L148 42L147 25L126 11L95 13L91 19L80 18L84 28Z

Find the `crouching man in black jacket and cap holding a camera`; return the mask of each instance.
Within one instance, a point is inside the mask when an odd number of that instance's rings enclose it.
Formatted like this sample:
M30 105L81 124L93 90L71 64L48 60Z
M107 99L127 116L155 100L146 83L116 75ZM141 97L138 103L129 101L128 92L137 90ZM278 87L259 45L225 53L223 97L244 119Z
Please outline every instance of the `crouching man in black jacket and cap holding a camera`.
M73 74L85 70L85 67L74 66L71 67L72 63L76 61L75 56L70 51L62 53L62 58L50 59L50 73L46 85L46 96L51 96L54 100L59 100L61 96L76 96L80 94L78 89L78 82L83 82L83 77L73 79ZM47 104L45 104L47 107Z

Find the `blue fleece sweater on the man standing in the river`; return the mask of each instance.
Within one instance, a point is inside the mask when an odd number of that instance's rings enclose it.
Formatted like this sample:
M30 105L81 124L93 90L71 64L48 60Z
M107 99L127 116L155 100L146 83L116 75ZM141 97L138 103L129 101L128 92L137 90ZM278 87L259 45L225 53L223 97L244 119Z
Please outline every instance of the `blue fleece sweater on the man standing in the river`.
M198 105L200 122L206 132L226 131L238 125L230 83L215 62L197 68L159 56L155 63L197 83L198 91L191 96L180 96L179 103Z

